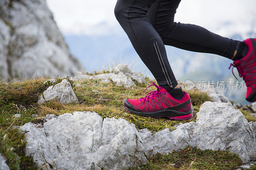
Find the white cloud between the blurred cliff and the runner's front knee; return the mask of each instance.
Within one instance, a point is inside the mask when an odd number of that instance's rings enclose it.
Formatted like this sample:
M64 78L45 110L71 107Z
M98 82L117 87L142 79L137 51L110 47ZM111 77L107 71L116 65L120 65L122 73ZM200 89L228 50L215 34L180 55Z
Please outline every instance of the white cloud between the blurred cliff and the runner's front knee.
M46 2L64 34L105 33L106 26L117 24L114 16L116 0L46 0ZM95 26L99 29L94 30Z

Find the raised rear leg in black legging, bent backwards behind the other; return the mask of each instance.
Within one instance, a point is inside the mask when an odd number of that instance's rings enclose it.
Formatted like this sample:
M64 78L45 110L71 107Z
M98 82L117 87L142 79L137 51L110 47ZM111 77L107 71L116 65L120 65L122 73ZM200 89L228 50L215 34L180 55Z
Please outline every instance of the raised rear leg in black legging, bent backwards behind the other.
M180 0L156 0L148 11L148 19L165 45L232 58L240 41L221 37L203 27L174 22Z

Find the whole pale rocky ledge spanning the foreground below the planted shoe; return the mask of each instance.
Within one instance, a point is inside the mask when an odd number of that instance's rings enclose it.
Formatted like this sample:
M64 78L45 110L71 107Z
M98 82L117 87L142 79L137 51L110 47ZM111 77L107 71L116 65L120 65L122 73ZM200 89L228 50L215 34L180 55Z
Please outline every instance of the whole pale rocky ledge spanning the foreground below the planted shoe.
M192 147L239 154L244 163L256 160L256 139L244 115L230 103L205 102L196 122L180 123L150 133L119 118L102 119L95 112L73 112L31 122L25 152L44 169L128 169L147 163L144 155Z

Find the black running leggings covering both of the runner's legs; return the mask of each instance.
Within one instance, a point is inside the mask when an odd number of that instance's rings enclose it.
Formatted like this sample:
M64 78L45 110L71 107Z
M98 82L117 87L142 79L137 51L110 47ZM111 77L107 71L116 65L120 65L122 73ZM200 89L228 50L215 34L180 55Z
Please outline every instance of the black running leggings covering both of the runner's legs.
M172 90L178 85L164 45L233 57L240 41L221 37L203 27L174 22L180 0L118 0L115 16L157 83Z

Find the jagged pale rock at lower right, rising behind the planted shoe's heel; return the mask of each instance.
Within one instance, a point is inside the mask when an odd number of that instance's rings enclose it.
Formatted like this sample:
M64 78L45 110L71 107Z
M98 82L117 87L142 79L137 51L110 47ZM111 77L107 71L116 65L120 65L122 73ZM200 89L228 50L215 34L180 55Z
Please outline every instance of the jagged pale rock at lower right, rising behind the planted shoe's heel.
M180 124L173 131L164 129L154 135L139 130L146 153L168 153L188 144L199 149L226 150L239 154L244 163L256 159L256 139L244 115L231 103L206 101L196 122Z

